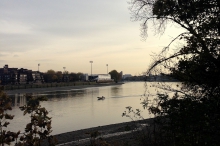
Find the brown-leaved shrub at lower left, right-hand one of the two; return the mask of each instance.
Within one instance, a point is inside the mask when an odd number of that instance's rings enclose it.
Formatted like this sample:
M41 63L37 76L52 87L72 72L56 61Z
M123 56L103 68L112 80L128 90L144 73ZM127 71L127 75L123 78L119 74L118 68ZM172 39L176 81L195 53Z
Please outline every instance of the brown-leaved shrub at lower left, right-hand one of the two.
M39 102L45 101L45 97L33 97L26 95L27 105L21 106L24 115L31 114L31 122L26 125L25 133L20 138L17 145L40 145L43 140L47 139L49 145L55 145L56 139L50 136L52 132L51 118L48 117L48 111L41 107Z

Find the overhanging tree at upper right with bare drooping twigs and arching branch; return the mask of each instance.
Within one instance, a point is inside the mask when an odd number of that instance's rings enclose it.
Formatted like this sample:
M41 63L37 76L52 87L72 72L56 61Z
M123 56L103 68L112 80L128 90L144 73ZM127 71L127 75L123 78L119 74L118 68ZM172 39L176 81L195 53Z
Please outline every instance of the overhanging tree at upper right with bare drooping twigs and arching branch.
M142 21L143 36L147 34L150 20L160 33L170 23L186 30L156 56L148 73L161 65L184 81L189 89L198 91L199 86L206 92L208 87L209 94L219 93L219 6L218 0L131 0L130 10L135 20ZM184 40L185 45L167 56L170 46L177 40Z

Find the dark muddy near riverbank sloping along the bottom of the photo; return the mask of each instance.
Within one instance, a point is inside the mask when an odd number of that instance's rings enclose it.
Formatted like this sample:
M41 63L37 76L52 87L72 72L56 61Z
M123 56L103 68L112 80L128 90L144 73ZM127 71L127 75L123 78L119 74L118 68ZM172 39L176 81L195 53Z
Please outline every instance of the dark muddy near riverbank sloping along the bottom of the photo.
M54 135L58 141L57 146L85 146L91 145L91 140L96 144L108 143L110 145L132 145L139 146L140 141L137 139L140 131L152 125L153 119L140 121L117 123L106 126L98 126L88 129L82 129L67 133ZM91 135L99 134L96 139ZM47 145L44 143L43 145Z

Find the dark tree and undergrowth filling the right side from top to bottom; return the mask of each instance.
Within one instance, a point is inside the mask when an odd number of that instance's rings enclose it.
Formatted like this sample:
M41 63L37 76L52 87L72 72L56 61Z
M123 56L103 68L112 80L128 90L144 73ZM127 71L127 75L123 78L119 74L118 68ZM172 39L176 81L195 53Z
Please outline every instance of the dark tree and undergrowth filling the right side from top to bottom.
M147 74L170 73L183 83L172 97L158 94L158 104L149 111L166 117L161 137L170 145L219 145L220 121L220 1L219 0L131 0L132 18L142 21L142 36L149 22L158 33L175 24L185 32L176 36ZM169 50L176 41L184 45ZM146 102L143 102L144 105ZM163 118L164 119L164 118ZM169 138L168 138L169 137Z

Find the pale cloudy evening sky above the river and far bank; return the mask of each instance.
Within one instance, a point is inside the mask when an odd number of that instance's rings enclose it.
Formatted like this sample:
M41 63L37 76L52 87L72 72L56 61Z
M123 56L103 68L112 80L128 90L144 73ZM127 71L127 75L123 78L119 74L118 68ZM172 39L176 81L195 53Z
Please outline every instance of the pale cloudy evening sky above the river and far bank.
M1 0L0 68L140 75L179 33L168 27L145 41L128 0ZM91 64L90 61L93 61ZM108 64L108 66L106 65ZM92 66L92 67L91 67Z

